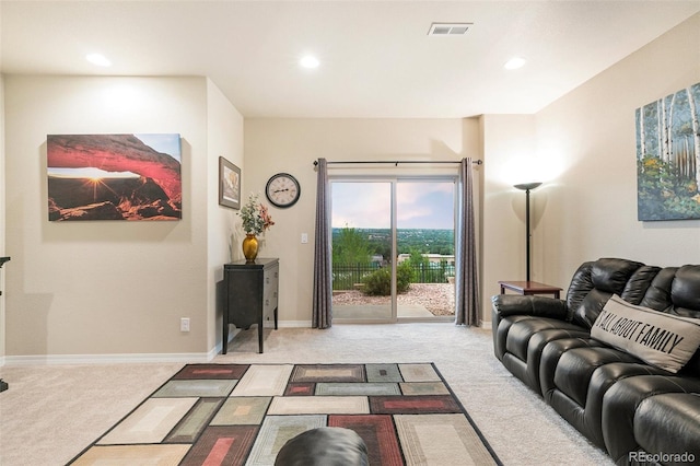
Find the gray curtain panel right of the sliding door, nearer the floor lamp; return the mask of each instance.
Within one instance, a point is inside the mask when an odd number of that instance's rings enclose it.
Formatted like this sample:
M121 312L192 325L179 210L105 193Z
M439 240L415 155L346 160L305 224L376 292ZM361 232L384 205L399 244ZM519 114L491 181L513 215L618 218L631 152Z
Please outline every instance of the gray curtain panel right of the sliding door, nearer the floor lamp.
M479 324L479 280L474 224L471 159L462 159L459 165L457 247L455 255L455 313L456 325Z

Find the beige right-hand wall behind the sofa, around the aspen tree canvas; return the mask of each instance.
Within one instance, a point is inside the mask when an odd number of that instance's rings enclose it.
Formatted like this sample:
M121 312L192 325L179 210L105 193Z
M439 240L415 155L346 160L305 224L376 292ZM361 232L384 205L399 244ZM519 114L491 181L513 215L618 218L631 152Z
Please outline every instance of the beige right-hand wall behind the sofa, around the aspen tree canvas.
M700 264L700 221L637 220L634 109L700 82L700 14L536 115L538 160L559 172L534 191L535 270L568 286L598 257Z

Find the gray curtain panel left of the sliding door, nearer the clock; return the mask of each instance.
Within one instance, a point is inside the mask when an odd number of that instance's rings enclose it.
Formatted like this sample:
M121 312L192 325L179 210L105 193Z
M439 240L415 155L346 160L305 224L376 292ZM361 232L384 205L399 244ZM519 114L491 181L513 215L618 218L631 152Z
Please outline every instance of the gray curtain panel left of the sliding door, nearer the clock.
M313 328L328 328L332 321L332 277L330 269L330 193L326 159L318 159L316 190L316 243L314 245Z

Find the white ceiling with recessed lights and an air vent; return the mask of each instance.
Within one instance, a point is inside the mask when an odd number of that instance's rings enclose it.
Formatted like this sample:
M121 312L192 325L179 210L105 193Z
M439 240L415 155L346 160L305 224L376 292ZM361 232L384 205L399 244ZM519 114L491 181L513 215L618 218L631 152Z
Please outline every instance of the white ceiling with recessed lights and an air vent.
M698 11L700 0L2 0L0 65L207 75L245 117L529 114ZM433 22L474 26L428 36ZM86 62L95 51L114 65ZM317 69L299 67L306 53ZM515 55L527 65L504 70Z

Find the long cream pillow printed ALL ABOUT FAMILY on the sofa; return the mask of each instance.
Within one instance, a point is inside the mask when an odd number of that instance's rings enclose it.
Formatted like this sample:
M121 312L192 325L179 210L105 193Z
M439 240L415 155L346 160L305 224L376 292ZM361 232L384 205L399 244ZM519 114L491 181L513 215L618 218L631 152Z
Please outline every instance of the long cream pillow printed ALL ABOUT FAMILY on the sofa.
M614 294L591 328L596 340L678 372L700 345L700 319L635 306Z

